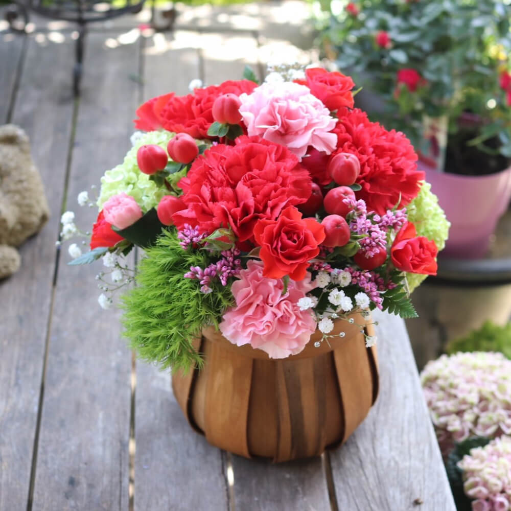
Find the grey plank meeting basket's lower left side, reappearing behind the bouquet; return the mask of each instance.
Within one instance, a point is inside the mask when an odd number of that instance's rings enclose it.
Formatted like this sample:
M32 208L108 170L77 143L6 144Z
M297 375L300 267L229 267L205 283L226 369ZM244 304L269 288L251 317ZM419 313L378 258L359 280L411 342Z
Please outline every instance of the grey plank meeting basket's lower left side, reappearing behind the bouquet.
M144 50L144 99L175 91L188 94L199 77L198 34L157 34ZM174 72L169 72L174 70ZM171 390L168 371L136 363L135 511L227 509L220 450L210 446L185 420Z

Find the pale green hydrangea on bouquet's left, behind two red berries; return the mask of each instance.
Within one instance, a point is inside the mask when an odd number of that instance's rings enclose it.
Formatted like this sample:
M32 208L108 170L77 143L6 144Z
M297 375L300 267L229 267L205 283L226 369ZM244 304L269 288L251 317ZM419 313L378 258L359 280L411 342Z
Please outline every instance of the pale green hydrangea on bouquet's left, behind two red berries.
M165 188L158 187L154 181L149 179L147 174L138 169L136 153L138 148L144 144L156 144L166 149L167 143L173 136L174 133L170 131L149 131L138 138L135 145L124 157L122 164L107 170L101 178L101 192L97 202L100 210L112 195L122 192L133 197L144 212L158 205L161 197L168 194L168 192ZM177 182L181 177L178 174L172 176L173 181Z

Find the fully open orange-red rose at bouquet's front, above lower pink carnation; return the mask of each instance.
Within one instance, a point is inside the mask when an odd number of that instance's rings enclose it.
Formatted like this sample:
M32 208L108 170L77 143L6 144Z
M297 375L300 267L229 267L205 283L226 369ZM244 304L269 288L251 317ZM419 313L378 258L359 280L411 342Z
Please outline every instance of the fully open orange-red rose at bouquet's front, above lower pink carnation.
M261 246L263 276L304 280L309 261L319 254L324 227L314 218L301 218L295 207L287 207L277 220L259 220L254 237Z

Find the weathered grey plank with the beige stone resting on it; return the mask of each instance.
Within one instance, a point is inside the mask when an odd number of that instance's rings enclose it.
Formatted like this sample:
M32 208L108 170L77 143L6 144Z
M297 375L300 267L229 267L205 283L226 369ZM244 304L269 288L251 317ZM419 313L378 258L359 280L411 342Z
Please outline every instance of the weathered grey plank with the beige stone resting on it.
M51 308L55 241L73 117L71 74L67 66L73 62L73 44L68 41L52 49L42 48L32 37L27 43L12 122L24 128L30 137L32 157L45 184L51 217L41 232L20 248L21 269L0 282L2 511L27 506ZM0 52L6 48L13 47L0 44ZM0 101L0 107L1 104Z

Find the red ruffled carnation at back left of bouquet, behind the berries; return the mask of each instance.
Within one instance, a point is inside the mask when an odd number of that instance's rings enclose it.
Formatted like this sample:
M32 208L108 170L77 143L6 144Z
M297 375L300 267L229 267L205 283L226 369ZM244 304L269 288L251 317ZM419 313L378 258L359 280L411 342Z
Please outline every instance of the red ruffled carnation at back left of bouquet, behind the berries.
M188 133L194 138L208 138L207 130L214 122L213 103L223 94L250 94L257 83L250 80L227 80L221 85L197 88L194 94L176 96L173 93L150 99L136 114L135 127L145 131L164 128L176 133Z

